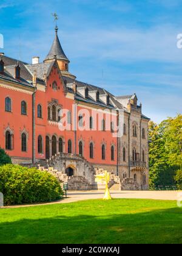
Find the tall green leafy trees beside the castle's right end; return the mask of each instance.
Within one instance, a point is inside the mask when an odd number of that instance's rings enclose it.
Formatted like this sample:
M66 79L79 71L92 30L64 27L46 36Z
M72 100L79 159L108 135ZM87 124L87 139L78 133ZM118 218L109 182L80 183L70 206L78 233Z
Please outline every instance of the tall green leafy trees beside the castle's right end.
M182 115L149 123L149 168L150 188L175 185L175 173L182 169Z

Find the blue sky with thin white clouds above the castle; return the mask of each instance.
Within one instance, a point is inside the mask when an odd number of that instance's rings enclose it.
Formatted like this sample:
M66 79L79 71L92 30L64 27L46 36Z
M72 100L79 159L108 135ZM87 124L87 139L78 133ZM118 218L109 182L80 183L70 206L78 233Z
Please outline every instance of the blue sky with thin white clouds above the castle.
M160 123L182 113L182 0L0 0L5 55L44 60L58 35L78 80L116 96L136 93Z

